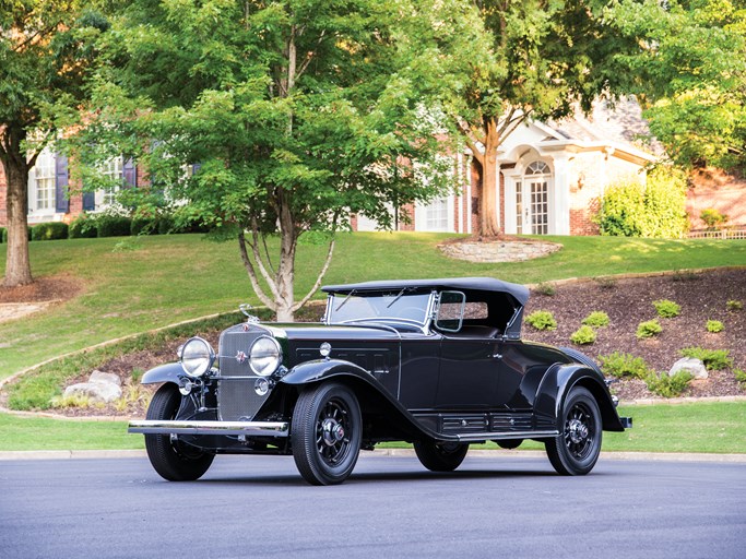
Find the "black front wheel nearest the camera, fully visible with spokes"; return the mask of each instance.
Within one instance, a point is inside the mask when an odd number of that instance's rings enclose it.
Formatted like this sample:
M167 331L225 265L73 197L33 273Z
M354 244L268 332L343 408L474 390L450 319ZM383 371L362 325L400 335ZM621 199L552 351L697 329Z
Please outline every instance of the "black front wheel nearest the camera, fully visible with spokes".
M293 412L291 445L295 465L311 485L341 484L360 453L360 406L347 386L335 382L308 388Z

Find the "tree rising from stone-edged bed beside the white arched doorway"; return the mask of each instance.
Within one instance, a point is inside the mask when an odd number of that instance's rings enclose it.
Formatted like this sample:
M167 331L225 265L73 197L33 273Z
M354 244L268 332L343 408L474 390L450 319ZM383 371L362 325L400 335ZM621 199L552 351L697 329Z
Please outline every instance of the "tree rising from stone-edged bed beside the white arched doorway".
M482 174L482 236L499 234L497 151L529 119L590 109L612 94L620 74L615 57L629 48L605 24L605 2L594 0L475 0L488 32L487 47L452 55L466 79L450 107Z

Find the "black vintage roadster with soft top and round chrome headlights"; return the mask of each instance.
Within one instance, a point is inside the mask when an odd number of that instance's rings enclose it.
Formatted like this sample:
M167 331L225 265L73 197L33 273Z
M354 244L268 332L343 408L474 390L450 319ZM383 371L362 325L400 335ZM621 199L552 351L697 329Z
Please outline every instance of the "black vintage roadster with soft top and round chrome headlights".
M602 430L623 431L615 399L583 354L521 341L529 290L494 278L323 287L322 323L225 330L215 354L192 337L147 419L147 455L166 479L192 480L215 454L292 454L315 485L344 481L360 449L410 441L422 464L455 469L473 442L543 441L554 468L588 474Z

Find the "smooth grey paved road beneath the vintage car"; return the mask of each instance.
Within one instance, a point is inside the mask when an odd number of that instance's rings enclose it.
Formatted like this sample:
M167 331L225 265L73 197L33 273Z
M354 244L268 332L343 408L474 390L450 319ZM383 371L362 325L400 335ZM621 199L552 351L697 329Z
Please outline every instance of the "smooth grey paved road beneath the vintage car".
M146 460L0 462L0 558L743 558L746 464L366 456L342 486L289 457L218 456L196 483Z

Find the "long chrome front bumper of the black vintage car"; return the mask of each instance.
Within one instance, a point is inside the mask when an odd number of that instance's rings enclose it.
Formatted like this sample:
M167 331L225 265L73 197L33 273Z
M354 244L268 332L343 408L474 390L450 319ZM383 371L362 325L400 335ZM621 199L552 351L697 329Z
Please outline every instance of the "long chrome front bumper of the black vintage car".
M146 435L245 435L251 437L287 437L287 421L130 421L128 432Z

